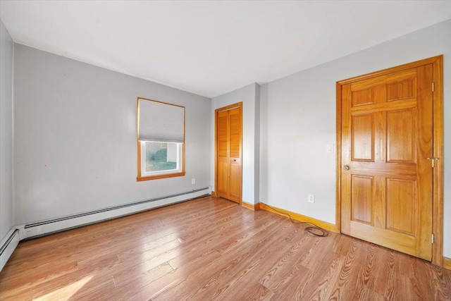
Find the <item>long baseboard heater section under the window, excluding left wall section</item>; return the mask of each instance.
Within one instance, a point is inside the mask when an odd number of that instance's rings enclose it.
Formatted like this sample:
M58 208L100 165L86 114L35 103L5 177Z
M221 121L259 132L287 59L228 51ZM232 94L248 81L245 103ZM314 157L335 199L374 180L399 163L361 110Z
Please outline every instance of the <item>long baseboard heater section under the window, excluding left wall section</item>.
M109 219L116 219L121 216L135 214L140 211L149 209L156 209L169 204L178 202L185 202L197 197L203 197L211 194L211 188L201 188L191 190L189 192L181 192L174 195L166 195L164 197L155 197L153 199L146 199L139 202L123 204L104 209L87 211L80 214L73 214L70 216L63 216L57 219L49 219L46 221L39 221L36 223L27 223L23 227L25 231L24 239L37 238L43 235L49 235L60 231L65 231L70 228L78 228L86 226L90 223L98 223Z

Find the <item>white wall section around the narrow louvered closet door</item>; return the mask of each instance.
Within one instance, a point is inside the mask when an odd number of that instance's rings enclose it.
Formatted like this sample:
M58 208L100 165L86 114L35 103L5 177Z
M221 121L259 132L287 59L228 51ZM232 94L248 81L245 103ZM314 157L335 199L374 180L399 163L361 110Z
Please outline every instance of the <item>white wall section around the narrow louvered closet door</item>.
M211 99L211 186L215 190L214 111L223 106L242 102L242 201L248 204L259 202L259 116L256 118L260 105L259 90L260 86L254 83Z

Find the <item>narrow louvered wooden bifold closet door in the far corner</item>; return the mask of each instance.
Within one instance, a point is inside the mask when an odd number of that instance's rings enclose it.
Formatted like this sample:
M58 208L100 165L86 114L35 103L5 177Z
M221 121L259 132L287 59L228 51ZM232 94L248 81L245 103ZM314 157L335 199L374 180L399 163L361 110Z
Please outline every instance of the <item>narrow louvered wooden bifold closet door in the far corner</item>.
M241 202L241 103L216 110L216 194Z

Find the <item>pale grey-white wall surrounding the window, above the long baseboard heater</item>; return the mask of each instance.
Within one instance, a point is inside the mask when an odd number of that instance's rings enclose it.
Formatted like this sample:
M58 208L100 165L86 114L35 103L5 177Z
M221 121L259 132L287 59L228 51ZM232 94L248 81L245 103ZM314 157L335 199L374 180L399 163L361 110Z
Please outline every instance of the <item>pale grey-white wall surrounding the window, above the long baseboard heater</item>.
M20 44L14 55L16 223L209 186L209 99ZM136 181L137 97L185 106L185 177Z

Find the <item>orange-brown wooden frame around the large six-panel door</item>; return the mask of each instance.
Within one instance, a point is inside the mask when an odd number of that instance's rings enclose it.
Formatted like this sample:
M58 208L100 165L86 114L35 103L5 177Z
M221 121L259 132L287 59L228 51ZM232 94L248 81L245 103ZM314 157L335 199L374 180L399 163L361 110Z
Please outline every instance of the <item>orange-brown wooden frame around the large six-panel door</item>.
M438 164L435 164L433 168L432 231L435 239L432 244L432 263L443 266L443 55L359 75L336 83L337 183L335 188L335 227L341 233L342 85L428 64L433 64L433 156L439 158Z

